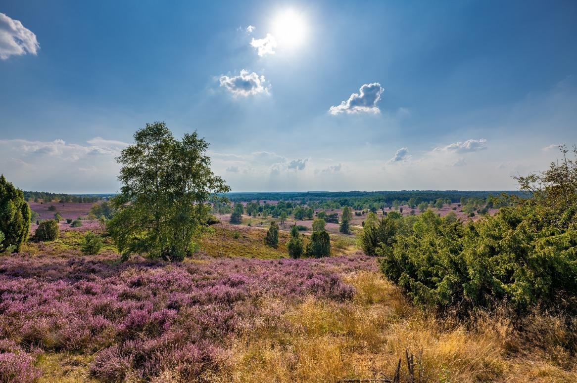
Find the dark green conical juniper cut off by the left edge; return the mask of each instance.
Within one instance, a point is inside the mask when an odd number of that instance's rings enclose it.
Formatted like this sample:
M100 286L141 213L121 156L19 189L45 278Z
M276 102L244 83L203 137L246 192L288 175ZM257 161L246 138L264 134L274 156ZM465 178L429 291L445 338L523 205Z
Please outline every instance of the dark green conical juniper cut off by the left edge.
M0 232L4 234L4 246L19 252L28 239L30 230L30 207L20 189L0 175Z

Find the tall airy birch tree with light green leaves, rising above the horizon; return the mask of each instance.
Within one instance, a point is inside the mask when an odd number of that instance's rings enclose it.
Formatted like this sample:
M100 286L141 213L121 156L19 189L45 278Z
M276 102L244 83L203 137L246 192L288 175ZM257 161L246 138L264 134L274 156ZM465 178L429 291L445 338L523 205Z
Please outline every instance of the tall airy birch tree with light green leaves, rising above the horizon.
M209 202L230 191L212 173L208 143L197 132L178 141L166 124L147 124L118 157L121 193L108 231L123 259L132 254L182 261L208 231Z

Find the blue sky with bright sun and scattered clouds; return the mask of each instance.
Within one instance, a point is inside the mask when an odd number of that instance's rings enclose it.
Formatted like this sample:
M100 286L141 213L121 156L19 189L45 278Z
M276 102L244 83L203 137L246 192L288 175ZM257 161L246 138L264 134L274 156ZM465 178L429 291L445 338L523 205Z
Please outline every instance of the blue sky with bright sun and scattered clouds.
M146 123L233 191L514 190L577 143L575 1L0 0L0 173L111 193Z

